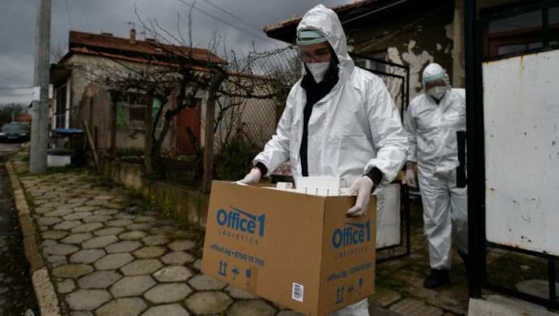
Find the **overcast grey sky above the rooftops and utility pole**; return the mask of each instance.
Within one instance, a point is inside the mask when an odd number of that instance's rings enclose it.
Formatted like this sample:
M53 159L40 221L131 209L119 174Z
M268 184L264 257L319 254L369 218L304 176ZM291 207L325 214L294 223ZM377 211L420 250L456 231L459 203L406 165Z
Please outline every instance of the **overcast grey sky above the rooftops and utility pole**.
M106 31L114 36L127 37L134 22L138 38L144 38L134 8L142 20L157 20L168 31L177 33L177 14L181 27L187 31L187 17L194 0L51 0L51 53L66 50L68 31L100 33ZM283 45L272 40L262 29L268 24L302 15L308 9L323 3L335 6L354 0L197 0L199 10L192 12L193 43L208 48L213 34L224 36L226 48L238 55L252 48L267 50ZM0 104L31 100L29 89L33 85L35 20L38 0L0 0ZM221 9L221 10L220 10ZM200 10L214 15L209 17ZM224 12L226 11L226 12ZM230 14L228 14L230 13ZM234 15L234 17L233 17ZM150 37L147 34L147 37Z

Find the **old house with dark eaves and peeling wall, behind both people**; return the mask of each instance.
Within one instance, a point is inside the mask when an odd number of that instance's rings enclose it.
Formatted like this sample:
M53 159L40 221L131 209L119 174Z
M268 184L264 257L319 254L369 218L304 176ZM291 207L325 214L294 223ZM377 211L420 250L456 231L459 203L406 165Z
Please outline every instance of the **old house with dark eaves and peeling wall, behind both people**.
M481 15L538 1L477 1ZM454 87L465 87L463 0L363 0L333 8L347 34L348 49L359 55L409 66L409 99L421 93L421 71L430 62L441 64ZM296 27L303 12L264 29L271 38L295 43ZM559 39L557 8L549 10L550 44ZM541 47L541 12L498 20L486 25L486 56ZM393 71L386 64L367 59L357 66ZM379 69L380 68L380 69Z

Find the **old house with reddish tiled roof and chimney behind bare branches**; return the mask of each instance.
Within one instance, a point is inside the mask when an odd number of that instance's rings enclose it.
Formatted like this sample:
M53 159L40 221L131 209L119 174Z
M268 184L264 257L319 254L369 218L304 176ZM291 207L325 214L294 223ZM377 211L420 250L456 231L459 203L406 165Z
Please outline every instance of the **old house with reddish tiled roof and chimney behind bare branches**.
M169 56L169 52L179 52L194 59L197 64L218 64L226 66L226 61L209 50L200 48L187 48L184 46L166 45L156 43L153 39L136 38L136 31L131 30L129 38L119 38L112 34L89 34L71 31L68 41L68 52L57 64L50 69L50 80L54 85L55 95L52 113L51 127L73 127L84 128L85 124L92 131L96 148L109 150L112 142L117 149L138 148L144 146L145 108L147 96L143 87L130 87L126 91L111 93L114 89L106 82L110 82L113 76L126 78L126 73L142 73L157 71L176 67L176 59ZM133 71L131 71L133 70ZM199 66L196 71L208 71ZM169 71L172 73L172 71ZM260 80L259 83L269 81L268 78L249 76L242 73L228 73L237 80L247 82ZM226 85L226 84L225 84ZM263 84L266 86L266 83ZM263 86L260 84L261 89ZM241 97L242 92L235 92L235 87L227 87L232 94ZM114 92L114 91L113 91ZM170 93L168 102L161 104L157 98L153 99L153 115L161 106L173 109L177 106L177 91ZM229 98L231 99L231 97ZM189 100L193 101L193 100ZM208 101L206 91L198 91L195 96L195 106L180 111L170 124L163 147L178 155L192 154L195 147L204 145L205 104ZM222 101L221 103L219 101ZM242 116L246 106L254 105L254 100L245 98L236 101L238 116ZM218 100L218 105L226 103ZM261 113L266 120L261 120L259 126L252 127L258 135L258 130L266 127L267 130L275 123L275 106L273 101L260 101L259 106L252 112ZM269 114L269 115L268 115ZM236 122L231 118L231 113L219 113L218 117L223 122ZM223 117L226 116L226 117ZM254 117L254 115L253 115ZM250 128L251 117L245 114L241 118ZM237 120L238 121L238 120ZM268 122L270 121L270 122ZM161 128L161 124L157 126ZM115 129L114 135L111 133ZM231 134L232 127L222 127L219 132ZM270 135L272 131L266 131ZM222 139L217 133L217 141ZM219 144L217 144L219 145Z

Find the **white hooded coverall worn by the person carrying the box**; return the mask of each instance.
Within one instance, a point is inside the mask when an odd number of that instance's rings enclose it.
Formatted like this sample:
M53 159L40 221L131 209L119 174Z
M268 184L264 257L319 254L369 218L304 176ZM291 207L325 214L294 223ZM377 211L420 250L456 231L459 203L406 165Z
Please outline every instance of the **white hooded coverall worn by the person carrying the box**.
M308 174L336 176L349 187L376 166L383 179L375 185L388 184L405 163L407 136L384 82L354 66L347 54L342 24L333 10L315 6L303 16L297 30L324 35L339 60L339 79L314 104L308 123ZM306 95L300 81L289 92L276 134L254 158L254 164L261 162L268 168L268 175L288 159L293 178L301 175L299 151ZM369 315L368 302L359 301L333 315Z

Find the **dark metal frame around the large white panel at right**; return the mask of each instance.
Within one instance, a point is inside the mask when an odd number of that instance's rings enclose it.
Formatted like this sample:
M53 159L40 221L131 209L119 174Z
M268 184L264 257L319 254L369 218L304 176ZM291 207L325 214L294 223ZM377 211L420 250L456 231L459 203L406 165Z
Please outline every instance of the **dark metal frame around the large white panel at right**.
M486 229L486 209L485 209L485 152L484 152L484 100L483 100L483 78L481 76L482 62L488 60L505 59L518 55L526 55L532 52L541 52L546 50L558 49L558 45L550 46L548 38L549 34L549 8L559 6L557 0L544 0L529 3L525 6L516 6L503 10L492 15L485 17L478 17L478 10L476 1L465 1L464 4L464 22L465 22L465 47L466 47L466 117L467 117L467 147L475 148L467 152L467 166L468 170L467 185L468 192L468 205L470 210L475 212L468 212L468 229L470 231L469 240L469 253L470 253L470 267L469 267L469 292L472 298L481 298L482 289L491 289L495 292L500 292L509 296L514 296L518 299L530 301L547 308L559 309L559 301L557 300L556 293L556 261L559 257L546 254L542 252L533 252L530 250L523 250L517 247L510 247L507 245L500 245L497 243L488 242L485 235ZM483 45L481 45L482 26L493 20L499 20L504 17L512 17L521 15L523 13L532 12L535 10L542 10L542 48L536 50L525 50L522 52L514 52L507 55L500 55L497 57L483 58ZM488 247L497 247L510 252L517 252L528 254L534 257L547 259L548 261L548 282L549 282L549 297L547 299L526 294L516 289L503 287L488 282L487 278L487 261L486 253Z

